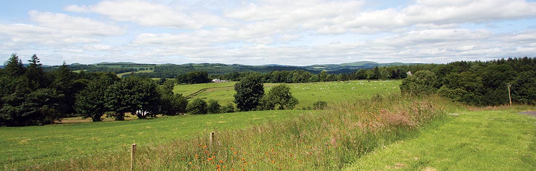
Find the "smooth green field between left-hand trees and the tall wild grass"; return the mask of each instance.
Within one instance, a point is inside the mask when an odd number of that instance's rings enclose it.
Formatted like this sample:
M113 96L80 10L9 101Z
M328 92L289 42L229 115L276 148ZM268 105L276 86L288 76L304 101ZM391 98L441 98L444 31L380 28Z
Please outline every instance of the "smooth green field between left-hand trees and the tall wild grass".
M16 168L114 151L131 143L170 142L214 129L239 129L282 121L306 110L252 111L134 120L0 128L0 165Z

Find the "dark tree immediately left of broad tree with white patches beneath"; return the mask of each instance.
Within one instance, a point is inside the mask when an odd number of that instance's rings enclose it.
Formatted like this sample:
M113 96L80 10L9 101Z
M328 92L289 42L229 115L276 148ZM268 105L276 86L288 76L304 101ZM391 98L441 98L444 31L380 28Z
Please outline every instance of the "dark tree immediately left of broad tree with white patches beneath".
M102 121L101 117L109 109L106 107L105 93L114 80L101 77L91 81L88 86L76 95L75 109L83 118L92 118L93 122Z

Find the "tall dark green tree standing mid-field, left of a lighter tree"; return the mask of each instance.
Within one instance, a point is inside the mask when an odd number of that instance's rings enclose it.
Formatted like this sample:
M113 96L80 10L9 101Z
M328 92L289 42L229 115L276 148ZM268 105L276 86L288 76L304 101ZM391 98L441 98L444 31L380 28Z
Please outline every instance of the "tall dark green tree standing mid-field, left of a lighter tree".
M264 95L263 80L259 73L251 73L235 84L234 102L240 111L250 111L257 108Z

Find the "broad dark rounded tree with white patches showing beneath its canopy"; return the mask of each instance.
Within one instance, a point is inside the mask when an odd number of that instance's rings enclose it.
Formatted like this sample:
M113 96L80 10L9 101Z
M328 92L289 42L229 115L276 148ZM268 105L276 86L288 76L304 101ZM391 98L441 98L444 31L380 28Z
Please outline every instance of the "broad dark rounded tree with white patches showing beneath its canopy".
M157 84L149 78L126 77L111 85L105 92L106 107L115 113L116 121L123 121L125 113L130 112L138 118L156 116L160 94Z

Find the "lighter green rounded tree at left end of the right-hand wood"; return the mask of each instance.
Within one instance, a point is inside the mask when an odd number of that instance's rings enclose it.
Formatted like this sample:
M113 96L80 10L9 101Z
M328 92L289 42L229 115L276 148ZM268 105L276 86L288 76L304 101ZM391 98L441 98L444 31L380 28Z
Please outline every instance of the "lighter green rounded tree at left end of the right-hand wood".
M404 78L400 84L400 91L404 94L421 95L435 93L434 85L437 78L429 70L417 71L411 77Z

